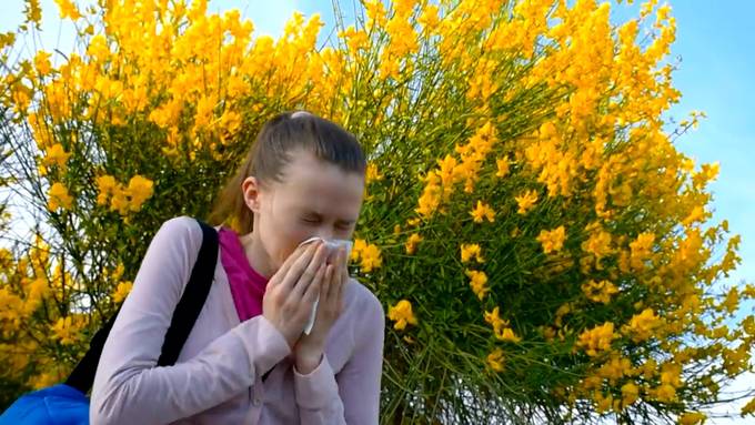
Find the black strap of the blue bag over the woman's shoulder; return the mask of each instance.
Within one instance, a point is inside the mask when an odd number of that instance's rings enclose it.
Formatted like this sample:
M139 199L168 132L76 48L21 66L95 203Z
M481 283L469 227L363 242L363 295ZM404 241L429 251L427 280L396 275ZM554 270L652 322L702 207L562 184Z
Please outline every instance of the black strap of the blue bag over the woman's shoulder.
M170 366L175 364L183 344L189 337L189 333L194 327L204 301L210 293L214 276L215 264L218 263L218 232L209 224L197 220L202 227L202 246L197 256L197 263L191 270L191 277L187 287L183 290L181 300L175 305L173 318L171 320L165 340L162 344L158 366ZM102 348L108 340L108 334L120 313L118 307L115 314L100 327L89 344L89 351L73 368L73 372L66 380L66 385L72 386L87 394L94 383L94 373L102 355Z

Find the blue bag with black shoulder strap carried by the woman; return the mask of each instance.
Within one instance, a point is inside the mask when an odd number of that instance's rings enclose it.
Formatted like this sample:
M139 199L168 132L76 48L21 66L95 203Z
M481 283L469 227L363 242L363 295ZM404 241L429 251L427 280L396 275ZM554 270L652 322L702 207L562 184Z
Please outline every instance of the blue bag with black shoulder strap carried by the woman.
M191 328L210 293L218 262L218 232L197 221L202 227L202 246L181 300L175 305L170 327L165 333L158 366L170 366L181 353ZM119 308L120 312L120 308ZM97 364L118 312L92 337L89 351L66 383L24 394L0 415L0 425L87 425L89 398L87 393L94 382Z

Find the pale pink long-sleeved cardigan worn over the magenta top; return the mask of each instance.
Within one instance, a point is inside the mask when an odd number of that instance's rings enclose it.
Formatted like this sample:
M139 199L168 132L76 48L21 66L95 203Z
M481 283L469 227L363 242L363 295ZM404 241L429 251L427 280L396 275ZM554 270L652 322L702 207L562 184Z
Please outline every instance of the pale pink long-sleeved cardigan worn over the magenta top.
M261 314L241 321L219 255L214 281L173 366L157 362L202 242L191 217L167 221L102 351L92 424L378 424L385 316L351 280L320 365L302 375ZM250 267L251 269L251 267ZM262 376L268 374L266 380Z

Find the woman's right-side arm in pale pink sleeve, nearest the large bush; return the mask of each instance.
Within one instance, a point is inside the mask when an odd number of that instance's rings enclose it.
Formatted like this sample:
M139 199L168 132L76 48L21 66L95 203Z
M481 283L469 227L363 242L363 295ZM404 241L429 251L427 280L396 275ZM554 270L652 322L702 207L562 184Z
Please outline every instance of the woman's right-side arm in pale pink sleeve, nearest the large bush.
M294 385L301 424L378 424L380 382L383 368L385 314L380 301L369 294L353 320L354 352L336 375L323 355L310 374L294 370Z

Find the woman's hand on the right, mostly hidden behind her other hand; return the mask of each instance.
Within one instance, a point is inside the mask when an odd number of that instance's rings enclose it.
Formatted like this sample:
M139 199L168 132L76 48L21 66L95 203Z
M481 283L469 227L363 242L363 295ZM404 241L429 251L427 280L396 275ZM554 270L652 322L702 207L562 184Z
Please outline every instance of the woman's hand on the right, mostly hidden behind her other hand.
M325 280L320 289L320 302L312 332L309 335L302 334L293 348L296 371L300 374L310 374L320 365L328 334L343 311L346 282L349 282L346 252L340 247L335 261L328 265Z

